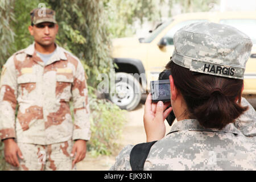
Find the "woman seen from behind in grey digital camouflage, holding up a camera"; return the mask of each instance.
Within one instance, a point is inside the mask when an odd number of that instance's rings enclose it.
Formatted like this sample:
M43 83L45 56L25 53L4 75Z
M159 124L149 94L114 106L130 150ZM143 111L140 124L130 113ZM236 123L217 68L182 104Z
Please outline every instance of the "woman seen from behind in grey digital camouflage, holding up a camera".
M171 104L177 122L165 137L168 104L147 97L144 127L150 149L144 170L255 170L256 113L241 98L251 40L236 28L193 23L176 32ZM247 109L247 110L246 110ZM111 170L131 170L128 145Z

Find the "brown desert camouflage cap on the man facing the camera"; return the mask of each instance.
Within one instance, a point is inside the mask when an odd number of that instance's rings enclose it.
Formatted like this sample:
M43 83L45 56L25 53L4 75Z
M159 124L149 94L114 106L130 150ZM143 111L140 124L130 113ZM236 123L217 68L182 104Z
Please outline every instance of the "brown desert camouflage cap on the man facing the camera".
M47 8L38 8L30 12L31 23L39 24L43 22L57 23L55 20L55 11Z

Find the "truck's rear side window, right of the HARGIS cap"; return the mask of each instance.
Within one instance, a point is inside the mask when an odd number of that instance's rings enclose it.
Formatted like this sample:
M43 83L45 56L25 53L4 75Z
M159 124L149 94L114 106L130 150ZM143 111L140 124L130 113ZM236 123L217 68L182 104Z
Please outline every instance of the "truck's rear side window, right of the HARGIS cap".
M256 19L222 19L220 23L236 27L248 35L253 44L256 44Z

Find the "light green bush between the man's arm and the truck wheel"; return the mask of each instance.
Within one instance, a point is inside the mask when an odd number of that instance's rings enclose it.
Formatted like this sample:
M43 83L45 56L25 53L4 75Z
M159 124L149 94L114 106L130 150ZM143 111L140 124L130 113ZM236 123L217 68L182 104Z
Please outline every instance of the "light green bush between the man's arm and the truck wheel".
M125 121L125 110L108 100L90 99L90 126L92 137L88 142L88 150L93 156L110 155L117 147L115 139L121 136Z

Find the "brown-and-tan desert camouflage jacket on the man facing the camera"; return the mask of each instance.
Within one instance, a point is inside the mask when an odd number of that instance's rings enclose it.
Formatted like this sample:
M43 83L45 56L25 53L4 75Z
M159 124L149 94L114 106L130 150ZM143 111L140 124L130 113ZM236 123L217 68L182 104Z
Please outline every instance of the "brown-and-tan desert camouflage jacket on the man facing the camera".
M42 145L90 139L84 68L65 49L56 45L46 65L36 55L34 44L14 53L2 69L0 86L1 139Z

